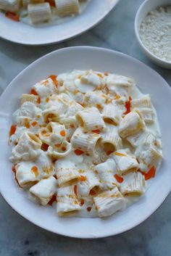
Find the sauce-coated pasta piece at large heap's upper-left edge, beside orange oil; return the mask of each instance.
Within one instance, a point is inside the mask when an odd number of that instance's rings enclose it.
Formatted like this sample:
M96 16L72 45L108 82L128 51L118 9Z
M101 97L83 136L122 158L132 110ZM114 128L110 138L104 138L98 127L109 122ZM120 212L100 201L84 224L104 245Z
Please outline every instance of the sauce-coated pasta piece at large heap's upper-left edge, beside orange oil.
M34 91L41 96L41 99L47 98L51 94L57 93L57 87L51 78L41 80L33 86Z

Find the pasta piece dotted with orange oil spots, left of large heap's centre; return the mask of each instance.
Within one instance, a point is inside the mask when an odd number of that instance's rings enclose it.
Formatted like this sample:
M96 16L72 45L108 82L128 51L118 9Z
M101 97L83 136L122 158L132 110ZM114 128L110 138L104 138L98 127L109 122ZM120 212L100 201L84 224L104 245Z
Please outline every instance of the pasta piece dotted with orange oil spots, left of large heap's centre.
M57 147L60 147L66 139L65 127L64 125L59 125L59 123L50 122L46 125L46 128L41 129L39 138L50 146L57 145Z

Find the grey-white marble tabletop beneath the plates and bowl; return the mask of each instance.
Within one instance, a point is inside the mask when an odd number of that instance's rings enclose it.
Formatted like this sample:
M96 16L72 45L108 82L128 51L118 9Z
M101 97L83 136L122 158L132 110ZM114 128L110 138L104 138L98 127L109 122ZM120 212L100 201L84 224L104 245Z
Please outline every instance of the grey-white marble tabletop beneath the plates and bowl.
M38 57L61 47L78 45L106 47L130 54L157 70L171 85L171 71L153 65L138 49L133 22L141 2L143 0L120 0L116 9L96 28L63 44L29 47L0 39L0 93L15 75ZM0 255L170 256L170 203L171 195L148 220L125 234L106 239L81 240L57 236L34 226L0 197Z

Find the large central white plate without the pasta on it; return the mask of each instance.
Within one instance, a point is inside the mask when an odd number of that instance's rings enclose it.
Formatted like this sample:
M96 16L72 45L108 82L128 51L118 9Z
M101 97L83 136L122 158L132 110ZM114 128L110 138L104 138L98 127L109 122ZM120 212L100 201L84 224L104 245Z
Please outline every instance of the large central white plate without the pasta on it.
M11 125L12 112L19 107L19 97L30 90L37 81L51 74L73 69L93 69L128 75L143 93L151 95L157 110L162 132L164 161L156 178L144 197L123 212L110 218L58 218L51 207L34 205L26 197L13 179L12 164L8 157L7 135ZM0 100L0 189L11 207L20 215L41 228L65 236L97 238L128 231L146 220L162 204L171 189L171 90L164 79L154 70L132 57L117 51L88 46L71 47L53 51L38 59L17 75L9 84Z

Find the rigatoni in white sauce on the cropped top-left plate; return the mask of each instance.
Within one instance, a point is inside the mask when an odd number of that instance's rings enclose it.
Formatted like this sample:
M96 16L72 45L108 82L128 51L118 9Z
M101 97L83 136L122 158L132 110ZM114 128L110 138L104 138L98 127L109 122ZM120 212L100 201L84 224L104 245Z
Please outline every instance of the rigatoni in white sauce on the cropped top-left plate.
M15 22L57 25L80 15L90 0L0 0L0 11ZM55 79L55 77L53 77Z

